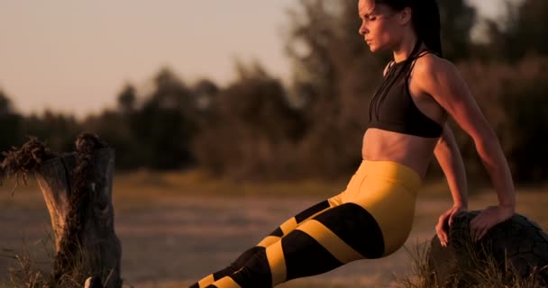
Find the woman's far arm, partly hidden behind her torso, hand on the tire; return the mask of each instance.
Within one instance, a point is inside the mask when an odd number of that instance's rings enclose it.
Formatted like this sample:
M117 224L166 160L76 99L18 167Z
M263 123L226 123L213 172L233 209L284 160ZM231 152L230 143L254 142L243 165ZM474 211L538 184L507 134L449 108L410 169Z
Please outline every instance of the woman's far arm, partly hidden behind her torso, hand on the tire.
M448 227L452 225L453 217L461 211L468 210L466 171L462 162L461 151L447 123L443 125L442 137L440 137L434 148L434 156L447 178L453 201L452 207L443 212L435 227L440 243L447 246L449 242Z

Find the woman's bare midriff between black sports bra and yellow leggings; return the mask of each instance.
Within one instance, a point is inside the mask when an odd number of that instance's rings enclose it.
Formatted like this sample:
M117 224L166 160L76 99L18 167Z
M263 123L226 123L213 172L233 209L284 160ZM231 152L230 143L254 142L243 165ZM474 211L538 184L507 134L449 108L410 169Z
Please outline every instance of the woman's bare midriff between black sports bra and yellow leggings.
M370 161L394 161L414 169L424 178L437 140L370 128L363 135L361 157Z

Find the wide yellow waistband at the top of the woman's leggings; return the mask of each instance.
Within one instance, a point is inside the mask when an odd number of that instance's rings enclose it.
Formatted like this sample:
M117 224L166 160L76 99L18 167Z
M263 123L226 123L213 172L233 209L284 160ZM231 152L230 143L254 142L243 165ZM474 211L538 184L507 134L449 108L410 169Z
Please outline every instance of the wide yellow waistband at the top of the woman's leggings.
M421 176L414 169L393 161L362 160L357 173L393 179L412 191L416 191L422 184Z

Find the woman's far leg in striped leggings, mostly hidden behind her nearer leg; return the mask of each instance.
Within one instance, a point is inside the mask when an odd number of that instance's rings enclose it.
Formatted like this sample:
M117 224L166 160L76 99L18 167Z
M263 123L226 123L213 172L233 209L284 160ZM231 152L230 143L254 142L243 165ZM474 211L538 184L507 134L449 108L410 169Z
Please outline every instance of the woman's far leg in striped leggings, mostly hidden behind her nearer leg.
M255 246L247 249L238 257L230 266L225 267L222 270L215 272L214 274L207 275L200 281L192 284L190 288L203 288L209 284L214 283L215 281L223 278L226 275L232 275L234 272L241 269L251 257L264 254L264 251L270 245L279 241L279 239L288 235L291 231L296 229L299 225L304 223L306 220L313 218L315 215L326 211L336 205L338 202L338 195L330 198L329 200L324 200L318 202L315 205L310 206L304 211L299 212L294 217L286 220L281 224L277 229L274 229L267 237L260 240L260 242Z

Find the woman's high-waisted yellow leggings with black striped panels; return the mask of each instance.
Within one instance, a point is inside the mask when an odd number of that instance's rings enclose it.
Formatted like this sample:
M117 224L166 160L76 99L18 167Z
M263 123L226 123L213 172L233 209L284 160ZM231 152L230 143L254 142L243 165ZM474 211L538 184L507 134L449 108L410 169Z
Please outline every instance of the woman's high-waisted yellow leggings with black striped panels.
M190 288L269 288L402 247L421 178L391 161L363 160L346 189L285 221L231 266Z

